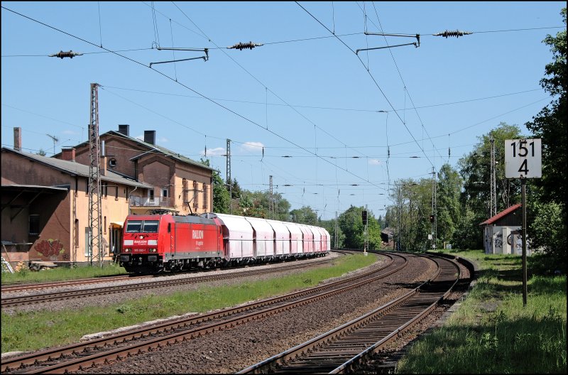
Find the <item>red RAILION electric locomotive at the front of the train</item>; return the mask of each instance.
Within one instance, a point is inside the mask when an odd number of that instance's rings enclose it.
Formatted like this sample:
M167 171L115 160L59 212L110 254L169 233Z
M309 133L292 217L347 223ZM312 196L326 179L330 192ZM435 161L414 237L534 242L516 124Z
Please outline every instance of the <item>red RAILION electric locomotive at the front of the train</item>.
M129 215L121 265L128 272L182 271L221 263L222 227L214 219L169 214Z

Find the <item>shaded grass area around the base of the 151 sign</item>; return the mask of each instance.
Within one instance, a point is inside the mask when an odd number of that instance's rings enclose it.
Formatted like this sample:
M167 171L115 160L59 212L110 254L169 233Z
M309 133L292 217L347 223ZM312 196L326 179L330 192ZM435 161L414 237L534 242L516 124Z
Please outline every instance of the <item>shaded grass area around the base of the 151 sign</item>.
M523 307L519 256L452 254L478 263L478 281L443 327L415 342L397 372L566 374L566 276L530 277Z

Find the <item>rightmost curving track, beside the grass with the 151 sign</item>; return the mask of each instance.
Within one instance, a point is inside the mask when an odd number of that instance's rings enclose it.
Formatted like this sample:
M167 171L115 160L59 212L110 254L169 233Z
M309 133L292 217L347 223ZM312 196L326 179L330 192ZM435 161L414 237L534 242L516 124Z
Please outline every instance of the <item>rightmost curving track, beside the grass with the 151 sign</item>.
M435 277L409 293L291 349L254 364L237 374L341 374L378 352L413 327L449 295L460 269L448 259L435 259Z

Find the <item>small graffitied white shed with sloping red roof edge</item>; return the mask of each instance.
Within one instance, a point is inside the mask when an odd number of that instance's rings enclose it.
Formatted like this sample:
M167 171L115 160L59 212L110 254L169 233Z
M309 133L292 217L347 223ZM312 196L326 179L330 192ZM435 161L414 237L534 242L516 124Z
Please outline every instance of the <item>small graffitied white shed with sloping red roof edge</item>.
M484 227L485 254L523 254L521 205L513 205L479 224ZM527 255L531 251L527 240Z

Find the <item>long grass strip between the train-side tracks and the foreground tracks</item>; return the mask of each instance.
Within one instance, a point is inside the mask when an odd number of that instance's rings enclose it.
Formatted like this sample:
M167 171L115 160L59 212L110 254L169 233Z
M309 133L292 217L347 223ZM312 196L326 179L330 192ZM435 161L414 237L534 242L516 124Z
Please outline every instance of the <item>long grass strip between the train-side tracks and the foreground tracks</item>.
M341 276L370 265L375 256L360 254L334 259L331 265L265 281L201 287L170 295L147 295L107 307L57 312L1 312L2 352L28 351L77 342L89 333L114 330L187 312L207 312L257 298L316 286L327 278Z

